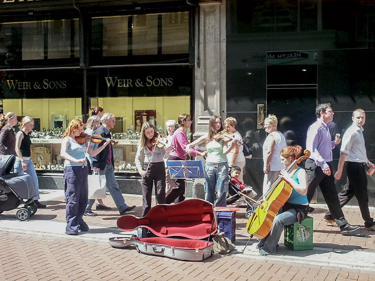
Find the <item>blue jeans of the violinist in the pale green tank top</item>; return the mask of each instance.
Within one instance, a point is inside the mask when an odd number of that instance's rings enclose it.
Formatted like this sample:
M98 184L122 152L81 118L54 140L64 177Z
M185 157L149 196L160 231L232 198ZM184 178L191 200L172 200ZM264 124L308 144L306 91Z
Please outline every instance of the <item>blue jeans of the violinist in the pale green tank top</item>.
M217 190L217 200L215 206L226 206L226 193L229 187L228 162L212 164L206 162L204 166L204 191L205 200L213 204L215 189Z

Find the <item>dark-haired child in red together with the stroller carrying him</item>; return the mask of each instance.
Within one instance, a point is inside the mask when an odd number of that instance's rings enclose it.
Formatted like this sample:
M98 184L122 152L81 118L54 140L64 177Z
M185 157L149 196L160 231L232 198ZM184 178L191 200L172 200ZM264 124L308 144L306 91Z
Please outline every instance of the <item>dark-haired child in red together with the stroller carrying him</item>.
M231 167L230 171L230 178L229 181L229 194L226 198L226 205L233 205L233 203L237 202L239 199L243 199L245 201L246 207L246 218L249 218L251 213L257 208L255 202L252 202L246 196L250 197L251 199L257 196L257 193L252 189L251 186L246 186L238 180L238 177L241 173L241 168L239 166ZM246 196L243 196L242 194ZM240 205L241 206L241 205Z

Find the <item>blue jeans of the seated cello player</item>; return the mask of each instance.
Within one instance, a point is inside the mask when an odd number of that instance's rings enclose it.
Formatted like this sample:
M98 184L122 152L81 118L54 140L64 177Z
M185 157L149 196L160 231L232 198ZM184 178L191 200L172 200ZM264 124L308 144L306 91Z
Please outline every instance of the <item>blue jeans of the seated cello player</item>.
M305 215L302 213L302 219L305 218ZM298 221L297 219L297 211L295 209L289 209L275 217L272 224L271 232L269 233L266 238L263 238L259 241L258 245L263 245L261 250L266 252L267 254L273 254L276 251L276 245L279 243L281 233L284 230L284 226L288 224L293 224Z

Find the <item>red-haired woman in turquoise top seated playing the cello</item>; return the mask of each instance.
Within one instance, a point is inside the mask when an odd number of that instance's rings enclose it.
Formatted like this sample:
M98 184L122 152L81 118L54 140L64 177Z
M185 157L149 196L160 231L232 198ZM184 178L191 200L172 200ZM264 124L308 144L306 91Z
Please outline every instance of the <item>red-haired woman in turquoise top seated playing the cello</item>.
M298 159L302 153L302 147L299 145L287 146L281 150L281 163L285 168L289 167L294 160ZM284 226L296 223L305 219L308 210L309 202L307 200L307 173L305 169L299 167L295 163L287 172L281 170L281 176L286 179L293 187L293 191L287 200L287 203L282 207L282 213L277 215L273 220L272 229L266 238L260 240L258 248L261 256L268 256L275 254Z

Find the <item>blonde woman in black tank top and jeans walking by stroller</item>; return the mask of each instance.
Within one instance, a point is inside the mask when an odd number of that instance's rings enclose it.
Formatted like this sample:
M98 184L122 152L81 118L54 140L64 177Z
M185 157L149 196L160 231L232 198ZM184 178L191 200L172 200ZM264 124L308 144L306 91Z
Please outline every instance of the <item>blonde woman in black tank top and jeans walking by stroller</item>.
M14 171L17 172L19 175L23 175L25 172L33 178L34 185L36 188L36 196L34 196L34 202L38 206L38 208L45 208L46 205L41 204L39 202L39 182L38 177L35 172L35 167L33 161L31 161L31 151L30 145L31 140L30 137L27 135L28 132L31 132L34 127L34 120L31 117L25 116L22 118L20 124L20 132L16 135L16 154L17 158L14 163Z

